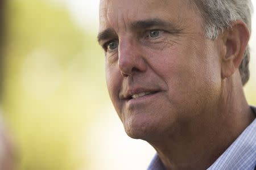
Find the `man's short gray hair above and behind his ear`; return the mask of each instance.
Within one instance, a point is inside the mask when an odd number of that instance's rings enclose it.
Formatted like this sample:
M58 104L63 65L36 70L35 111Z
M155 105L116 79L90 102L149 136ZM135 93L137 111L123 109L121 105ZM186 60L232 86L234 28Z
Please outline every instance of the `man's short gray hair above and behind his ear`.
M191 0L189 0L191 1ZM204 19L205 36L216 39L225 29L230 28L236 20L242 20L251 32L251 13L253 5L250 0L193 0ZM246 47L239 71L242 84L249 80L250 50Z

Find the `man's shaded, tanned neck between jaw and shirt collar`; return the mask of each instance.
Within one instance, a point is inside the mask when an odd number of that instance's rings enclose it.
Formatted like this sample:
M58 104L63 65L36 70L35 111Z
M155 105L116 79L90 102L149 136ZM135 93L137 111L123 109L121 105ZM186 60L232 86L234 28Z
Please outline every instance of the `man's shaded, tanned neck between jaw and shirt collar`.
M240 86L229 86L237 83ZM175 133L148 141L166 169L207 169L255 118L241 82L233 79L224 83L218 106L200 115L179 125Z

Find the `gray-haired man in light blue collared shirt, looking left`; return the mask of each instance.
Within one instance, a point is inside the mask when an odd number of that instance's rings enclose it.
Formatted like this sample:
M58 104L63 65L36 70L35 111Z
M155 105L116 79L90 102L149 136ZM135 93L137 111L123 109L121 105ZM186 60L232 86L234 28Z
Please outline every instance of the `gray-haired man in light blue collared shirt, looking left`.
M101 0L98 42L126 133L148 169L254 169L249 0Z

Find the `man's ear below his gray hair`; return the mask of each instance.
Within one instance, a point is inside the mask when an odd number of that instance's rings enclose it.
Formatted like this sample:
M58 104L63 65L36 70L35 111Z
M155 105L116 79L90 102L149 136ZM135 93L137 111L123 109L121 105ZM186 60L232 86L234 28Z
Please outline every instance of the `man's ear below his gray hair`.
M240 66L250 39L249 29L241 20L237 20L232 27L222 34L224 55L221 60L222 79L229 78Z

